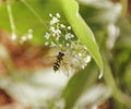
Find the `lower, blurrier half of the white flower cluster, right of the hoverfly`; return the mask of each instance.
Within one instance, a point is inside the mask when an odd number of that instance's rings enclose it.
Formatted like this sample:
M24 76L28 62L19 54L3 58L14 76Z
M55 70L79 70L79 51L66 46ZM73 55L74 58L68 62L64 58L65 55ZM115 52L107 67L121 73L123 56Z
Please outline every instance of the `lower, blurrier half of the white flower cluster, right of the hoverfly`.
M73 69L84 69L91 61L91 56L87 52L85 46L83 46L79 40L74 41L70 48L64 50L66 62L69 66Z

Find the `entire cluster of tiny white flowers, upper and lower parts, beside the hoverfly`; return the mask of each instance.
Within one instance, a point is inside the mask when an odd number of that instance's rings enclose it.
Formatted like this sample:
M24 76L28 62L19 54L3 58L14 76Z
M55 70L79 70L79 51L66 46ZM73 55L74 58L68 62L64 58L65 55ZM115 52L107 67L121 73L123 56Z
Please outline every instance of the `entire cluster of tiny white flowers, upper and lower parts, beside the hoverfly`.
M71 33L71 26L60 23L59 13L55 16L49 14L49 16L51 17L50 28L44 36L45 46L60 48L64 53L63 64L68 69L70 68L70 71L84 69L91 61L86 47Z

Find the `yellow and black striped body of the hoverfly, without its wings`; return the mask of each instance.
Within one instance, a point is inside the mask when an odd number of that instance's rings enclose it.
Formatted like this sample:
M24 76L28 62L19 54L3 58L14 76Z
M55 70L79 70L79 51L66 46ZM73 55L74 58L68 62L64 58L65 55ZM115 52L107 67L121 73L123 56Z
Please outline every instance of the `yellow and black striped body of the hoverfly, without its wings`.
M61 61L63 60L64 53L63 52L59 52L56 59L56 62L53 63L53 71L58 71L60 65L61 65Z

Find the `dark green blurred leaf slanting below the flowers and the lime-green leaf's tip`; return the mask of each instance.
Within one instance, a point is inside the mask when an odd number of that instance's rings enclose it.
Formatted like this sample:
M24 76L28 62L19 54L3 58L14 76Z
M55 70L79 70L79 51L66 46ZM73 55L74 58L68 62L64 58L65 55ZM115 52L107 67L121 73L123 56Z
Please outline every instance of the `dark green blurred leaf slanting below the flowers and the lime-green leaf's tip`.
M68 83L63 90L62 97L66 100L64 109L71 109L83 92L88 89L97 80L97 69L92 62L76 73Z

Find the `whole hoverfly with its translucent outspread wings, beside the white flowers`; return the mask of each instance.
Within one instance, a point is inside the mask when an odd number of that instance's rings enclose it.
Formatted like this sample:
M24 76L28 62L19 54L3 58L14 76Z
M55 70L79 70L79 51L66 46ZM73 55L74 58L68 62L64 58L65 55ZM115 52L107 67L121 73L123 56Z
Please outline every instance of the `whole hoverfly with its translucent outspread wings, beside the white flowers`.
M57 52L57 53L56 53ZM44 61L49 62L52 65L53 72L62 72L66 75L69 75L71 71L69 63L67 62L69 58L64 50L53 49L50 50L46 56L44 56Z

